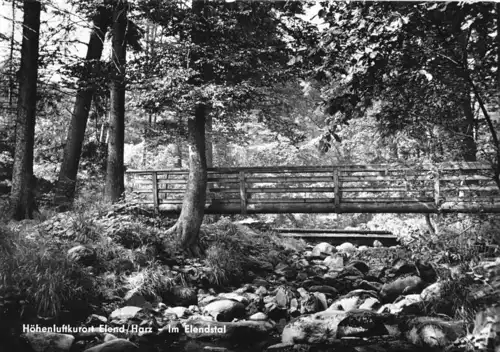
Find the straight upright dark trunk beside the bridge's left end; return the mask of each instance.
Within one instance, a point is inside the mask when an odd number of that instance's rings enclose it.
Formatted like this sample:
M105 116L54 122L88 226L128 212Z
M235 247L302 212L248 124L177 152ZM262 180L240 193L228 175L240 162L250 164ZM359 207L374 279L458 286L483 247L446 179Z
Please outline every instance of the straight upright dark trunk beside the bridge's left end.
M125 64L127 3L118 0L113 11L113 77L111 79L111 109L109 123L108 162L104 198L116 202L125 190L123 149L125 142Z

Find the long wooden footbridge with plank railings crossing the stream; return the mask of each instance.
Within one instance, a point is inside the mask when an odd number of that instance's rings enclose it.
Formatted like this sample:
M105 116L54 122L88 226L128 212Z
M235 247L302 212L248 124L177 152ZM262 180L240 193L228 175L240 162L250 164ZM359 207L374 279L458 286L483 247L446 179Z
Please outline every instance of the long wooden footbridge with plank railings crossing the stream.
M188 171L132 170L144 206L178 213ZM208 169L208 214L500 213L491 165L440 163Z

